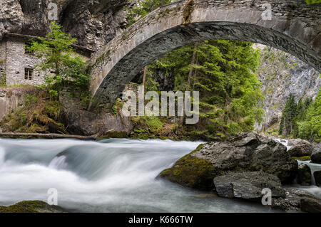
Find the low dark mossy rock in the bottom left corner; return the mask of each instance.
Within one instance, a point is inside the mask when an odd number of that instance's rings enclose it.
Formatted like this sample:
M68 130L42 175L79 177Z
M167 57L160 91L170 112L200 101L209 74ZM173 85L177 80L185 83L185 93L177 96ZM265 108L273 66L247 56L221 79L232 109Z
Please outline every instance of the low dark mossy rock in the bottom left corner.
M21 201L11 206L0 206L0 213L66 213L59 206L51 206L44 201Z

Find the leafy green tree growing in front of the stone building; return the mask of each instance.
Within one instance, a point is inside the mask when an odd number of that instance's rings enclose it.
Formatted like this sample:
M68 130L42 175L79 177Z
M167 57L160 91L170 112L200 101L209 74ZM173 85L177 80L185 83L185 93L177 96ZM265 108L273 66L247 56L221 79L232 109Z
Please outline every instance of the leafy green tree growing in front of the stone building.
M73 49L76 38L61 31L55 21L51 23L51 31L46 38L32 40L27 51L34 53L41 62L36 69L44 72L46 86L52 96L65 86L86 89L90 75L86 73L86 62Z

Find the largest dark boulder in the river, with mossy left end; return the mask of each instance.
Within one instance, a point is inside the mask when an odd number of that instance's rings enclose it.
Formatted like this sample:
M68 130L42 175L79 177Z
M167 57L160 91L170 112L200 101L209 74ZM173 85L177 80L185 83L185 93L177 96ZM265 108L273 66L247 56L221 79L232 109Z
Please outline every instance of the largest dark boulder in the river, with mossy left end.
M213 189L213 179L227 172L265 171L290 183L297 174L297 161L287 148L255 133L243 133L225 142L202 144L160 176L194 189Z

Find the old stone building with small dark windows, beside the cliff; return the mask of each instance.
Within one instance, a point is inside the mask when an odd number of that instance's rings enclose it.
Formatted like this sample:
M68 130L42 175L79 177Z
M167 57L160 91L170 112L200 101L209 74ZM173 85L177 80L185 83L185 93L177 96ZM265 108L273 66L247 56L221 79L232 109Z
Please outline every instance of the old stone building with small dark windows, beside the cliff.
M0 85L41 85L44 73L36 71L39 59L26 51L31 38L16 33L6 33L0 40ZM74 45L84 60L89 60L93 51Z

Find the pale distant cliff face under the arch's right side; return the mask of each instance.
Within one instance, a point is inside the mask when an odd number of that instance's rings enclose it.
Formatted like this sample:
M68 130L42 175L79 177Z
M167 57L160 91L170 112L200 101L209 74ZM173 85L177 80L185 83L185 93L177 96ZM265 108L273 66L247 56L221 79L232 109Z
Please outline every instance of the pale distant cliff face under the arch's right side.
M277 125L291 94L296 100L300 97L315 99L321 78L317 70L288 53L260 44L255 44L255 48L262 53L258 77L265 95L263 124L256 125L260 131Z

